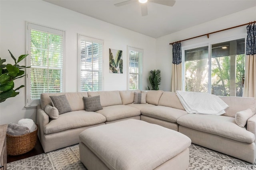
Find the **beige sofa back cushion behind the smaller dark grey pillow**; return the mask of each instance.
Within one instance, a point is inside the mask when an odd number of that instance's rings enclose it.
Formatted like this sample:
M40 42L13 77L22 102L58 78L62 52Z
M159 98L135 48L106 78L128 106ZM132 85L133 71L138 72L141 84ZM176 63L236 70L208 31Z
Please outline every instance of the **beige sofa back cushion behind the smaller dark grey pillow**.
M88 92L88 96L100 96L100 104L102 107L122 104L119 91Z

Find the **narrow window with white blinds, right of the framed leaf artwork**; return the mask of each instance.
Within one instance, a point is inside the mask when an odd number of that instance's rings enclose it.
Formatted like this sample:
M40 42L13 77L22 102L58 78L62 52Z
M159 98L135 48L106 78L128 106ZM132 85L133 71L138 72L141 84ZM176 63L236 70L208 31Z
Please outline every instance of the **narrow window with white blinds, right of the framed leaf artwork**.
M129 90L142 89L142 72L143 72L143 50L128 47L129 56Z

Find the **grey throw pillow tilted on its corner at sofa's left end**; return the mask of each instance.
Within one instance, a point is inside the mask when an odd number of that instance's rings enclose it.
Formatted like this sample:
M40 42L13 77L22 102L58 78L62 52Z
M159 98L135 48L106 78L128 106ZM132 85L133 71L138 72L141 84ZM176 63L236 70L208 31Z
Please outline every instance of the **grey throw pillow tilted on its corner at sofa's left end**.
M56 107L58 109L59 114L72 111L65 95L50 96L50 98L52 99L53 107Z

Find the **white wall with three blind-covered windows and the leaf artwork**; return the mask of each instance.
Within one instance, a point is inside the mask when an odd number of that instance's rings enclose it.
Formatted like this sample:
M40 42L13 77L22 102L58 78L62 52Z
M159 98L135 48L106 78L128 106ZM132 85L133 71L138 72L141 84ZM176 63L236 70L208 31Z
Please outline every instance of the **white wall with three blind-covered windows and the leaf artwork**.
M144 49L144 87L148 72L156 68L156 39L49 4L41 0L0 0L0 56L6 63L26 53L26 21L66 31L66 92L77 91L77 33L104 40L104 90L127 89L127 45ZM123 50L124 73L109 73L108 49ZM25 64L25 61L21 64ZM25 78L15 86L25 84ZM0 104L0 124L17 123L22 118L36 120L36 109L26 109L25 88L15 98Z

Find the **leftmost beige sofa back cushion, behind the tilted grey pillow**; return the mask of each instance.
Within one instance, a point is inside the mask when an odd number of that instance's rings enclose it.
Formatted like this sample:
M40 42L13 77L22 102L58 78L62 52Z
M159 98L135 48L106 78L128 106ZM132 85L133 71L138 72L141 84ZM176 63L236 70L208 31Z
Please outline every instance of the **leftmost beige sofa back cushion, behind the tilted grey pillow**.
M50 96L65 95L72 111L84 110L83 97L88 97L87 92L67 92L67 93L42 93L41 94L41 107L45 109L46 105L52 106Z

